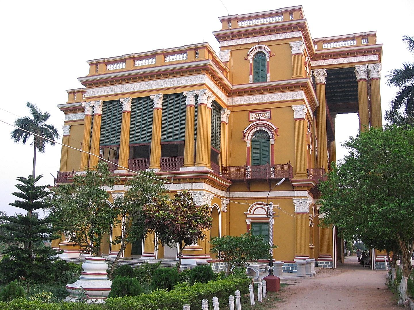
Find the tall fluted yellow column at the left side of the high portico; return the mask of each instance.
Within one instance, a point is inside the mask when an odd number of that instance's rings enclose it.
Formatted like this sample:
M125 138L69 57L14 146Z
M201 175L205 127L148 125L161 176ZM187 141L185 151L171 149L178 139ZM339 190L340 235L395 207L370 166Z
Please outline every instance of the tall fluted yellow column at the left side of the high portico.
M316 96L318 97L319 106L316 110L316 136L318 138L318 156L316 167L327 167L327 141L326 141L326 69L313 70L316 83Z

